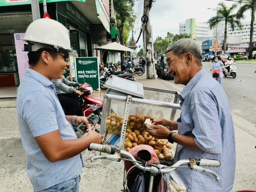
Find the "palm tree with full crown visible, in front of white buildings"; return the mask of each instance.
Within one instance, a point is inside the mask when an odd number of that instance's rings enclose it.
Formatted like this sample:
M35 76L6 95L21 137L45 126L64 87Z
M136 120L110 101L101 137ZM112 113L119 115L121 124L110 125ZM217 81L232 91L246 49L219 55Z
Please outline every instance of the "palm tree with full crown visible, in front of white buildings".
M216 16L211 17L207 23L209 23L210 29L217 26L221 21L225 22L225 32L224 32L224 54L226 54L227 46L227 25L231 26L231 29L234 30L235 26L238 26L242 29L239 15L237 13L233 14L233 11L236 9L237 4L233 4L231 7L227 7L225 3L218 3L217 14ZM216 34L217 35L217 34Z

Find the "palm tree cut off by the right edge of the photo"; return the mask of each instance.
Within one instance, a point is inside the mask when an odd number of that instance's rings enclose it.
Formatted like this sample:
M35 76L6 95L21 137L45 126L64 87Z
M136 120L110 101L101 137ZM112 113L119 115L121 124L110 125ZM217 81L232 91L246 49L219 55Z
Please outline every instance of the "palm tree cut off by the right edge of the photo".
M253 58L253 22L254 14L256 10L256 0L239 0L241 8L238 11L238 15L241 18L244 18L244 12L250 10L251 13L251 23L250 23L250 47L249 47L249 59Z

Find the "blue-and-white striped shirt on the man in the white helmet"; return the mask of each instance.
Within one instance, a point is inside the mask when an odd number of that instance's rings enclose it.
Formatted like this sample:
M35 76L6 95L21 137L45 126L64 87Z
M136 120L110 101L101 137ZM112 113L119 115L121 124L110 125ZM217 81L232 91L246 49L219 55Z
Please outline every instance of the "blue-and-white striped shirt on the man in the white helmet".
M63 140L77 137L61 108L55 86L46 77L29 68L26 68L17 92L17 118L26 152L26 171L34 191L47 189L81 174L81 154L52 163L34 139L56 130L60 131Z

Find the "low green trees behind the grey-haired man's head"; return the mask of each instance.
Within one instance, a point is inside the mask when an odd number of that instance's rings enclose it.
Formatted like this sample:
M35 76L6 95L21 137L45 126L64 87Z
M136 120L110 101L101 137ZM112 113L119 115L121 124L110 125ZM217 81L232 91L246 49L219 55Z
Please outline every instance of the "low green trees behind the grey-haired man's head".
M156 41L154 41L154 52L161 53L165 52L168 47L170 47L172 44L174 44L179 39L183 38L191 38L191 35L189 34L172 34L170 32L167 32L167 36L165 38L162 38L158 36L156 38Z

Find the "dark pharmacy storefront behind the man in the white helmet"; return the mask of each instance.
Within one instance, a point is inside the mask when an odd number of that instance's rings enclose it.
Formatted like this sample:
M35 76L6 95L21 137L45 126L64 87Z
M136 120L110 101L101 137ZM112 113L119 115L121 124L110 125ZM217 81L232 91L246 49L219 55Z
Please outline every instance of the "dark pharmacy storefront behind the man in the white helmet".
M51 19L58 20L69 29L71 47L77 50L79 57L95 55L92 49L93 24L101 24L105 27L106 36L109 32L109 14L106 14L107 11L103 6L103 1L96 1L98 4L95 1L90 3L79 1L47 3L47 12ZM107 0L107 2L109 1ZM97 6L98 9L96 9ZM43 18L42 3L39 4L39 8L41 18ZM101 10L100 18L97 14L99 10ZM105 17L102 17L102 15ZM16 57L14 34L25 33L32 21L30 4L0 6L0 86L19 85L17 67L19 62Z

